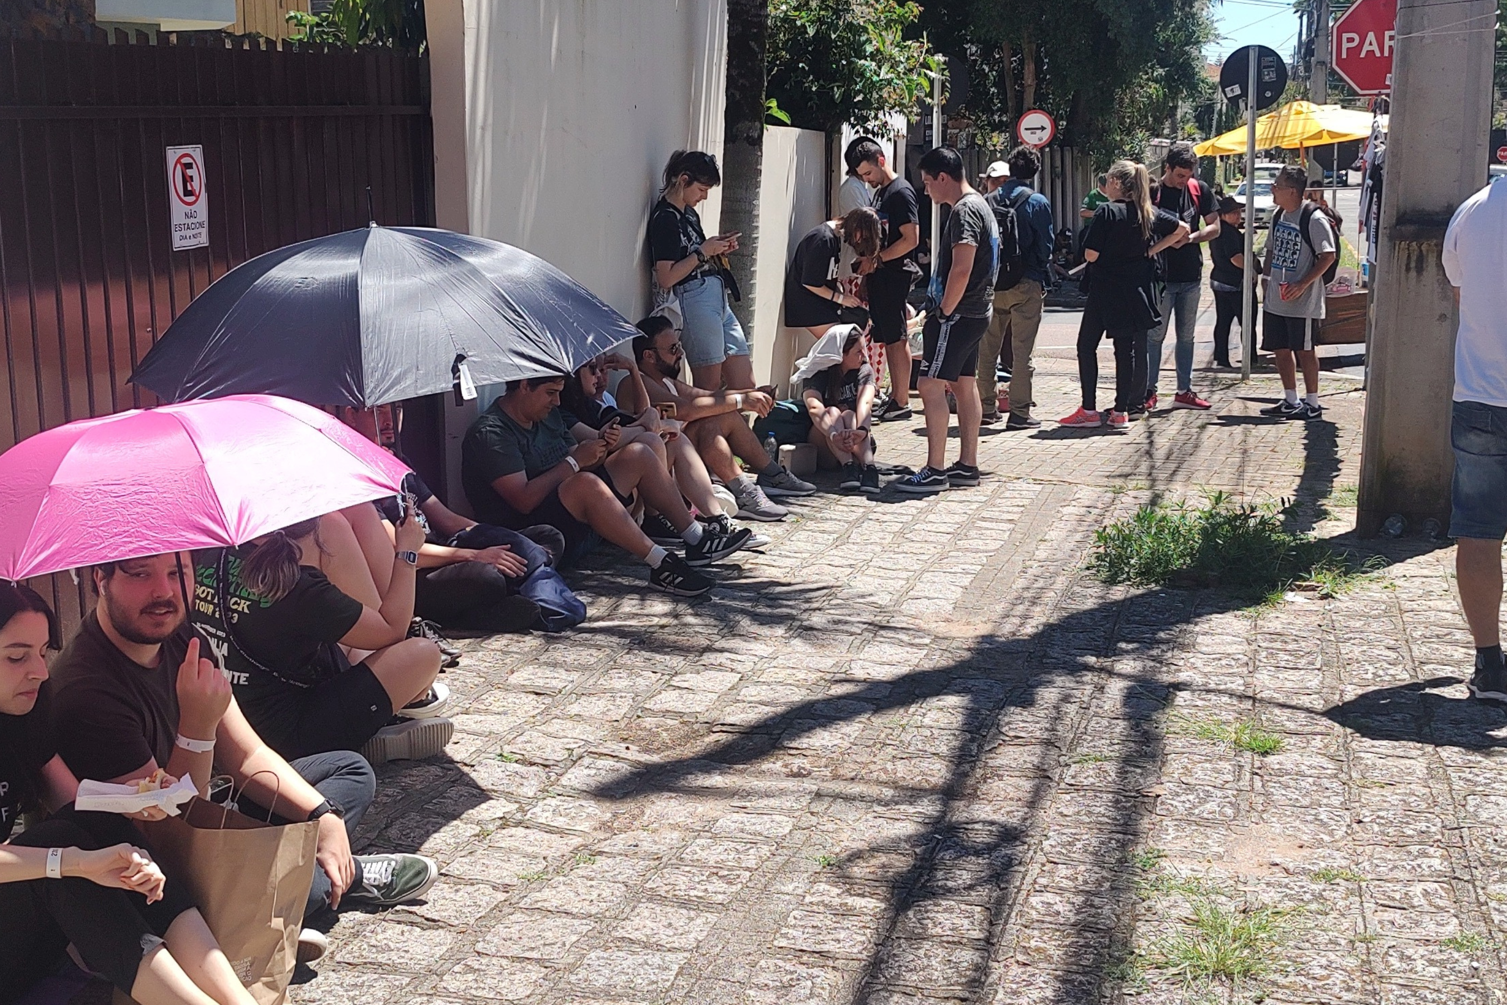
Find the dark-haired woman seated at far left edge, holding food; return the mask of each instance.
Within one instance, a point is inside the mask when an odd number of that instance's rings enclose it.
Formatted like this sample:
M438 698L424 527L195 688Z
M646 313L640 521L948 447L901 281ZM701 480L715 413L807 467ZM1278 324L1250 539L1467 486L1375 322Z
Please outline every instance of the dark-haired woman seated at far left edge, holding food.
M140 1005L252 1005L187 890L163 875L131 823L72 811L78 780L53 743L48 649L57 624L47 601L0 582L0 1002L65 966L72 943ZM21 812L44 809L60 812L12 839Z

